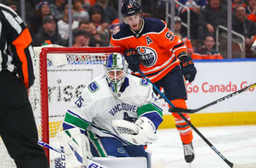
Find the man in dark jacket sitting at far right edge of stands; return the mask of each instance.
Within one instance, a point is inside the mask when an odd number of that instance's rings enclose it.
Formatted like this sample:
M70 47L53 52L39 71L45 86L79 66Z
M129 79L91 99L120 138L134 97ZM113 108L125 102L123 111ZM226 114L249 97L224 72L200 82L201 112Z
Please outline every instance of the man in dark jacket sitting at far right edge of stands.
M250 48L253 44L253 37L256 35L255 24L247 19L245 9L242 5L238 5L234 12L232 30L241 33L245 37L245 55L246 57L251 57Z

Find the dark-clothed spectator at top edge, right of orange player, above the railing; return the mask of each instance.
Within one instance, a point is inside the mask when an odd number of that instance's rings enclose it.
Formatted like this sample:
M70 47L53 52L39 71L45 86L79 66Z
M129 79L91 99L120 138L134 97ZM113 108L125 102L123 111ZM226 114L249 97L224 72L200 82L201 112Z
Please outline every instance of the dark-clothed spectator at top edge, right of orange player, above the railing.
M207 34L215 35L218 25L227 24L227 6L220 0L209 0L209 4L198 17L198 38L204 40Z

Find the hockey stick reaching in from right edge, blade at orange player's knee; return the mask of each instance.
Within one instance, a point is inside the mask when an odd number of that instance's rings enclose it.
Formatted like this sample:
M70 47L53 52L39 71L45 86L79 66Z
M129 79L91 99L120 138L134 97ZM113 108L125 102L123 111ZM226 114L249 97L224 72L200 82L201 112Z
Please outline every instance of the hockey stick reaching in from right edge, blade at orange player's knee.
M202 107L199 107L199 108L196 108L196 109L186 109L186 108L179 108L179 107L170 107L169 108L169 112L171 112L171 113L189 113L189 114L193 114L193 113L196 113L198 111L203 110L204 108L207 108L207 107L210 107L210 106L212 106L214 104L222 102L223 100L226 100L226 99L228 99L230 97L233 97L233 96L236 96L238 94L241 94L242 92L244 92L244 91L246 91L246 90L248 90L250 88L253 88L255 86L256 86L256 83L254 83L252 85L249 85L249 86L247 86L247 87L245 87L243 89L237 90L234 93L231 93L231 94L229 94L227 96L221 97L218 100L215 100L215 101L213 101L213 102L211 102L209 104L206 104L206 105L204 105Z

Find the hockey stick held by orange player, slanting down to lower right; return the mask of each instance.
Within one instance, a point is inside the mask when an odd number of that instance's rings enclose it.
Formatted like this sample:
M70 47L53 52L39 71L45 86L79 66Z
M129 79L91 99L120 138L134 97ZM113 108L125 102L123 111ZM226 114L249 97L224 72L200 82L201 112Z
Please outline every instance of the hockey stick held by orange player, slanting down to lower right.
M151 82L150 79L148 79L148 77L147 77L140 69L139 69L138 71L139 71L140 75L141 75L143 78L145 78L149 83L151 83L151 84L153 85L153 87L154 87L154 88L156 89L156 91L165 99L165 101L166 101L170 106L174 107L174 105L170 102L170 100L154 85L154 83ZM251 163L251 164L234 164L234 163L228 161L228 159L227 159L225 156L223 156L223 155L219 152L219 150L218 150L217 148L215 148L215 147L211 144L211 142L210 142L209 140L207 140L207 139L202 135L202 133L199 132L199 131L197 130L197 128L196 128L190 121L188 121L188 119L187 119L183 114L181 114L181 113L178 113L178 114L179 114L179 115L182 117L182 119L185 120L185 121L189 124L189 126L206 142L206 144L209 145L209 146L212 148L212 150L213 150L215 153L217 153L217 155L218 155L224 162L226 162L226 163L229 165L229 167L231 167L231 168L256 168L256 163Z

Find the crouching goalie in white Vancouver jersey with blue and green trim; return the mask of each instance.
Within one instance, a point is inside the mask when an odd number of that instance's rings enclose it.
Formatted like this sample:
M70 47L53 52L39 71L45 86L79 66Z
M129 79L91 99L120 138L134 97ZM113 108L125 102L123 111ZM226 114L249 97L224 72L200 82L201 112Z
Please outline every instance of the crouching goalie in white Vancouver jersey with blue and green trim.
M63 130L79 128L86 137L82 139L89 139L90 151L83 149L84 157L93 156L83 163L88 167L91 160L102 167L151 167L144 145L157 140L156 130L163 121L153 86L127 74L127 62L119 53L110 54L103 68L105 73L89 82L67 110Z

